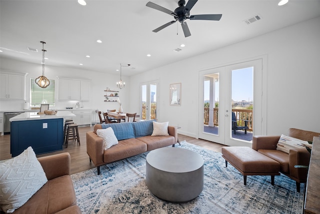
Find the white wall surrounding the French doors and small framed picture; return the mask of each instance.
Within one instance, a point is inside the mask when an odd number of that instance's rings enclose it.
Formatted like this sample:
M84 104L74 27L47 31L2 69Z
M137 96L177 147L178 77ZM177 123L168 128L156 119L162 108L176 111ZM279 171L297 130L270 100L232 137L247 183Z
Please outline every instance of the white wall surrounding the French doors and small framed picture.
M141 82L159 80L158 121L197 137L198 72L242 59L267 56L266 134L288 128L320 132L320 17L131 77L130 107L139 108ZM169 84L182 84L181 106L169 105Z

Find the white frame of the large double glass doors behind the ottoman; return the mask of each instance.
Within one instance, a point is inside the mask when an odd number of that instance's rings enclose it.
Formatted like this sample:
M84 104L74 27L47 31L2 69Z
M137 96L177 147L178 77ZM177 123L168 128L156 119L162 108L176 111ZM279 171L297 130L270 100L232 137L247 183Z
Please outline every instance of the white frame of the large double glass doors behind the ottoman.
M255 60L261 60L261 73L258 76L259 78L259 82L261 82L261 87L258 87L259 89L256 90L256 86L253 85L253 91L255 91L254 93L259 94L260 97L260 103L255 104L254 108L258 108L260 110L260 114L261 114L261 123L259 124L255 124L253 126L253 133L255 135L266 135L266 97L267 97L267 93L266 93L266 81L267 81L267 56L266 55L261 55L261 56L256 56L256 57L252 57L252 58L248 58L248 59L244 59L244 60L238 60L238 61L234 61L234 62L229 62L229 63L224 63L221 65L216 65L216 66L211 66L210 68L204 69L199 71L198 73L198 80L199 80L199 91L198 91L198 96L199 96L199 100L198 100L198 132L197 132L197 138L203 138L203 76L206 74L210 74L210 73L215 73L213 70L217 69L219 72L224 72L224 74L221 75L221 73L219 74L219 78L221 77L222 80L225 78L225 72L226 72L226 67L232 67L233 65L236 64L241 64L241 63L247 63L250 61L255 61ZM212 72L213 71L213 72ZM254 78L254 77L253 77ZM201 82L202 81L202 82ZM254 82L253 82L254 84ZM220 100L220 96L223 95L224 96L224 89L221 89L222 87L220 87L219 89L219 100ZM254 95L255 97L256 95ZM219 102L219 109L220 109L220 105L221 103ZM222 104L222 106L224 106L224 104ZM222 107L221 106L221 107ZM222 108L221 108L222 110ZM219 124L221 122L221 120L224 120L224 111L226 110L225 107L223 107L223 118L222 118L222 114L221 112L219 113ZM219 130L220 131L220 130ZM213 134L207 134L205 133L205 135L208 136L208 138L203 138L205 140L209 140L212 142L216 142L216 143L220 143L220 144L225 144L225 133L223 133L223 139L221 136L217 136L217 135L213 135ZM221 133L219 134L221 135ZM211 140L210 140L211 139ZM214 140L212 140L214 139ZM250 146L251 144L248 143L243 143L241 144L241 141L239 141L239 143L237 144L239 146Z

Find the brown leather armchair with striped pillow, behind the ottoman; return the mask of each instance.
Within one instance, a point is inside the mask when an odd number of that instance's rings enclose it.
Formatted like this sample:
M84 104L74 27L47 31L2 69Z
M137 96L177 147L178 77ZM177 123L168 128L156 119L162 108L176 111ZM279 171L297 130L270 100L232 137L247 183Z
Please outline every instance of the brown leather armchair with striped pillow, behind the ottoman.
M320 133L290 128L287 136L300 140L311 141L313 136ZM307 168L295 168L294 165L309 165L310 153L305 148L294 148L289 150L289 154L276 150L280 136L253 136L252 149L272 158L280 163L280 172L295 180L296 191L300 192L300 183L305 183L307 178Z

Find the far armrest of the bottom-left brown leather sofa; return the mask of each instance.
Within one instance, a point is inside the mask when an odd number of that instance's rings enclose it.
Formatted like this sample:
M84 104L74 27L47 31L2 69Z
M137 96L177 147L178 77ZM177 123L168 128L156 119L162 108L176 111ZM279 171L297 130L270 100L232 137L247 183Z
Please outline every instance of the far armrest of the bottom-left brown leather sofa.
M38 157L37 159L40 162L48 180L70 174L71 158L68 152Z

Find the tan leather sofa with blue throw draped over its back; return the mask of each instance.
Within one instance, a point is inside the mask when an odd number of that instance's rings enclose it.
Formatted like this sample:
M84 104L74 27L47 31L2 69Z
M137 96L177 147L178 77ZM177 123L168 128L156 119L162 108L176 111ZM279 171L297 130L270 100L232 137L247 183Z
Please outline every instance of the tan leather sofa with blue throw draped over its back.
M119 124L124 124L126 126L132 125L132 130L131 128L127 128L125 131L132 131L135 133L137 132L138 128L141 129L141 127L137 126L142 123L147 123L147 121L111 123L107 126L114 127L119 126ZM118 144L104 150L103 140L96 134L97 129L103 128L105 128L104 124L95 124L93 126L93 131L86 133L86 153L89 155L90 161L92 161L97 167L97 174L100 174L101 165L138 155L146 151L151 151L156 148L169 145L173 146L175 143L177 143L177 128L174 126L168 126L169 136L140 136L139 134L135 133L136 137L122 140L118 139ZM143 132L143 130L140 131ZM116 130L114 132L116 132Z

